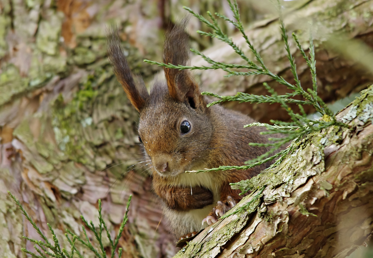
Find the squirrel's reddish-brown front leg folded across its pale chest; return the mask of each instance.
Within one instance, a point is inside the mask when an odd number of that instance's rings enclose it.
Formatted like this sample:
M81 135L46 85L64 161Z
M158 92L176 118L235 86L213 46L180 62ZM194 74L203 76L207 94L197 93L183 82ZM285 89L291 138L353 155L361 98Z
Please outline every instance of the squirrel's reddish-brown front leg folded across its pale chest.
M213 193L201 186L155 185L154 190L168 208L177 211L201 209L213 203Z

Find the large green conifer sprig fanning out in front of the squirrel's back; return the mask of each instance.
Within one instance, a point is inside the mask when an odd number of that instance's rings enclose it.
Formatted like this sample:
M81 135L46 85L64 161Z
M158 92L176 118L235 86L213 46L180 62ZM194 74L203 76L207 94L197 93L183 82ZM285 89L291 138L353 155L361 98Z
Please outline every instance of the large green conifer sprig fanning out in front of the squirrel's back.
M156 64L158 66L164 66L167 68L174 68L174 69L191 69L191 70L207 70L207 69L222 69L226 71L228 74L226 76L249 76L249 75L267 75L270 79L278 82L279 84L285 85L288 89L291 90L291 92L278 95L273 88L271 88L267 83L263 83L267 91L269 92L268 95L254 95L254 94L247 94L243 92L238 92L235 96L220 96L218 94L215 94L213 92L202 92L202 95L209 95L211 97L218 98L219 100L213 101L212 103L209 103L207 106L213 106L215 104L219 104L225 101L239 101L242 102L249 102L249 103L279 103L281 107L285 108L285 110L288 112L289 116L291 117L291 122L282 122L282 121L275 121L271 120L270 122L273 123L273 125L267 124L267 123L251 123L250 125L247 125L245 127L250 126L263 126L267 129L267 131L262 132L262 134L276 134L276 133L282 133L285 135L283 138L269 138L269 143L251 143L252 146L258 146L258 147L267 147L269 148L269 151L264 153L263 155L258 156L257 158L253 160L249 160L245 162L245 166L220 166L217 168L212 169L203 169L203 170L193 170L190 172L206 172L206 171L219 171L219 170L238 170L238 169L250 169L254 166L258 166L260 164L266 163L268 161L275 160L275 163L273 163L269 168L272 168L274 166L277 166L287 154L291 153L294 148L296 147L296 142L298 142L301 138L303 138L305 135L311 132L317 132L321 129L327 128L332 125L339 125L339 126L346 126L344 123L337 122L335 120L335 116L332 111L326 106L324 101L317 96L317 80L316 80L316 60L315 60L315 52L314 52L314 44L313 39L311 37L310 33L310 47L309 47L309 55L307 56L303 48L301 47L301 44L299 43L299 40L297 36L292 33L292 38L294 39L295 43L297 44L301 55L305 59L310 71L311 71L311 78L312 78L312 88L311 89L303 89L301 86L300 79L298 78L297 74L297 65L295 64L295 59L291 54L290 50L290 44L289 44L289 37L286 33L285 24L282 19L282 15L280 13L280 29L281 29L281 36L282 40L285 43L285 50L286 50L286 57L289 60L290 63L290 70L294 77L295 84L291 84L287 82L282 76L279 76L275 73L272 73L268 67L264 64L263 59L261 58L259 52L256 50L256 48L253 46L253 44L248 39L248 36L245 34L244 27L242 25L240 15L239 15L239 8L236 0L227 0L229 7L231 8L233 12L233 18L229 19L225 15L221 13L215 13L215 15L218 18L221 18L231 24L233 24L242 34L242 37L244 37L245 42L247 43L248 47L250 48L251 52L254 54L255 61L250 60L245 53L241 50L241 48L238 47L233 41L231 37L228 37L225 33L223 33L222 29L220 28L217 19L211 15L210 12L207 12L207 15L209 16L210 20L207 20L203 16L201 16L198 13L195 13L192 9L188 7L184 7L185 10L187 10L189 13L191 13L193 16L198 18L201 22L205 23L209 28L212 29L212 32L203 32L203 31L197 31L201 35L209 36L217 38L228 45L230 45L233 50L244 60L243 65L241 64L226 64L223 62L216 62L212 60L211 58L205 56L200 51L191 49L191 51L198 56L201 56L207 63L209 63L211 66L181 66L181 65L173 65L171 63L165 64L165 63L159 63L159 62L153 62L149 60L144 60L147 63ZM279 6L280 7L280 6ZM280 12L280 8L279 12ZM237 69L245 69L248 71L241 72L237 71ZM303 98L303 100L297 100L293 97L300 96ZM296 113L289 104L296 104L299 109L300 113ZM312 120L308 119L307 115L304 112L304 105L311 105L313 106L316 111L322 114L322 118L319 120ZM278 150L278 148L282 147L284 144L287 144L288 142L291 142L289 146L285 150L281 150L280 152L270 156Z

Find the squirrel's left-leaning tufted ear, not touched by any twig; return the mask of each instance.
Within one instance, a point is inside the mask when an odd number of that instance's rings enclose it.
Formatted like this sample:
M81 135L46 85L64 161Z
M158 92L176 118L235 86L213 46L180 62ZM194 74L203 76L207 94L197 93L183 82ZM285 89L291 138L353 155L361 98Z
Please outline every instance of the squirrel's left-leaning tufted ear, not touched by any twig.
M120 84L122 84L128 99L140 111L149 97L148 91L143 83L140 85L135 84L127 59L120 46L118 29L112 28L107 34L107 53L110 64L113 66L114 73Z

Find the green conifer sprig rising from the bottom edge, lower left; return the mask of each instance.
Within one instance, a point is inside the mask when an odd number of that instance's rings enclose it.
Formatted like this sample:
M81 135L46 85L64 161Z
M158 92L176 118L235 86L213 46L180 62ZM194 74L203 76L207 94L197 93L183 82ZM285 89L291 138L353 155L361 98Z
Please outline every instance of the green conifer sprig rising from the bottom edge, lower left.
M16 204L17 204L18 208L21 210L22 214L31 223L32 227L34 227L34 229L36 230L38 235L41 237L41 239L43 239L43 240L34 240L34 239L30 239L30 238L25 237L25 236L23 237L26 240L35 244L34 245L35 251L39 254L39 255L37 255L37 254L35 254L35 253L25 249L25 248L22 248L23 252L31 255L31 258L47 258L47 257L73 258L73 257L75 257L75 254L78 255L79 258L84 258L82 256L82 254L76 248L76 245L75 245L76 241L80 242L82 245L87 246L94 253L94 255L97 258L106 258L107 255L106 255L106 251L104 249L103 242L102 242L102 232L103 232L103 230L106 231L106 236L107 236L107 238L109 239L109 242L110 242L110 247L111 247L111 250L112 250L111 251L111 258L114 258L115 253L116 253L115 251L116 251L120 236L122 236L124 226L128 221L129 205L131 203L131 198L132 198L132 195L130 195L129 198L128 198L127 205L126 205L126 212L125 212L125 215L123 216L122 223L120 224L119 231L118 231L118 234L116 235L115 239L112 239L112 237L110 236L110 232L107 229L106 223L102 218L102 206L101 206L101 200L99 199L98 200L98 221L99 221L98 229L96 229L96 227L94 226L92 221L88 222L82 215L81 215L81 218L84 221L85 226L87 226L88 229L93 232L95 238L98 241L98 244L100 245L100 248L99 249L94 248L94 246L91 243L90 238L87 235L87 232L86 232L84 226L82 226L82 230L83 230L83 233L84 233L84 236L85 236L85 240L81 239L79 236L74 235L70 230L66 229L66 232L68 232L68 233L66 233L65 236L66 236L66 239L68 240L68 242L70 244L70 250L71 250L70 252L68 252L65 248L61 249L61 246L60 246L60 243L58 242L57 236L54 233L54 230L52 229L52 227L50 226L49 223L47 225L48 225L48 229L49 229L49 231L52 235L52 239L53 239L54 244L52 244L48 240L47 236L44 235L43 232L41 232L40 228L36 225L36 223L32 220L32 218L29 217L29 215L26 213L25 209L22 207L22 205L18 201L18 199L15 198L15 196L12 195L12 193L10 193L9 191L8 191L8 194L16 202ZM70 238L70 237L72 237L72 238ZM51 252L48 251L48 249ZM118 257L119 258L122 257L122 252L123 252L122 248L118 248Z

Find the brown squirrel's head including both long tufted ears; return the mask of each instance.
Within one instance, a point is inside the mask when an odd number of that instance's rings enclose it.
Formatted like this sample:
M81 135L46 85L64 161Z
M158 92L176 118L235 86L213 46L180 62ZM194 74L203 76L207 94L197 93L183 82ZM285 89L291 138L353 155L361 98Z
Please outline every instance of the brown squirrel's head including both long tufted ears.
M165 36L163 62L187 65L189 61L188 19ZM150 157L153 172L176 176L202 166L213 149L214 123L207 99L189 71L164 67L166 83L157 82L148 94L145 85L135 84L116 31L108 36L109 60L127 97L140 112L139 140Z

